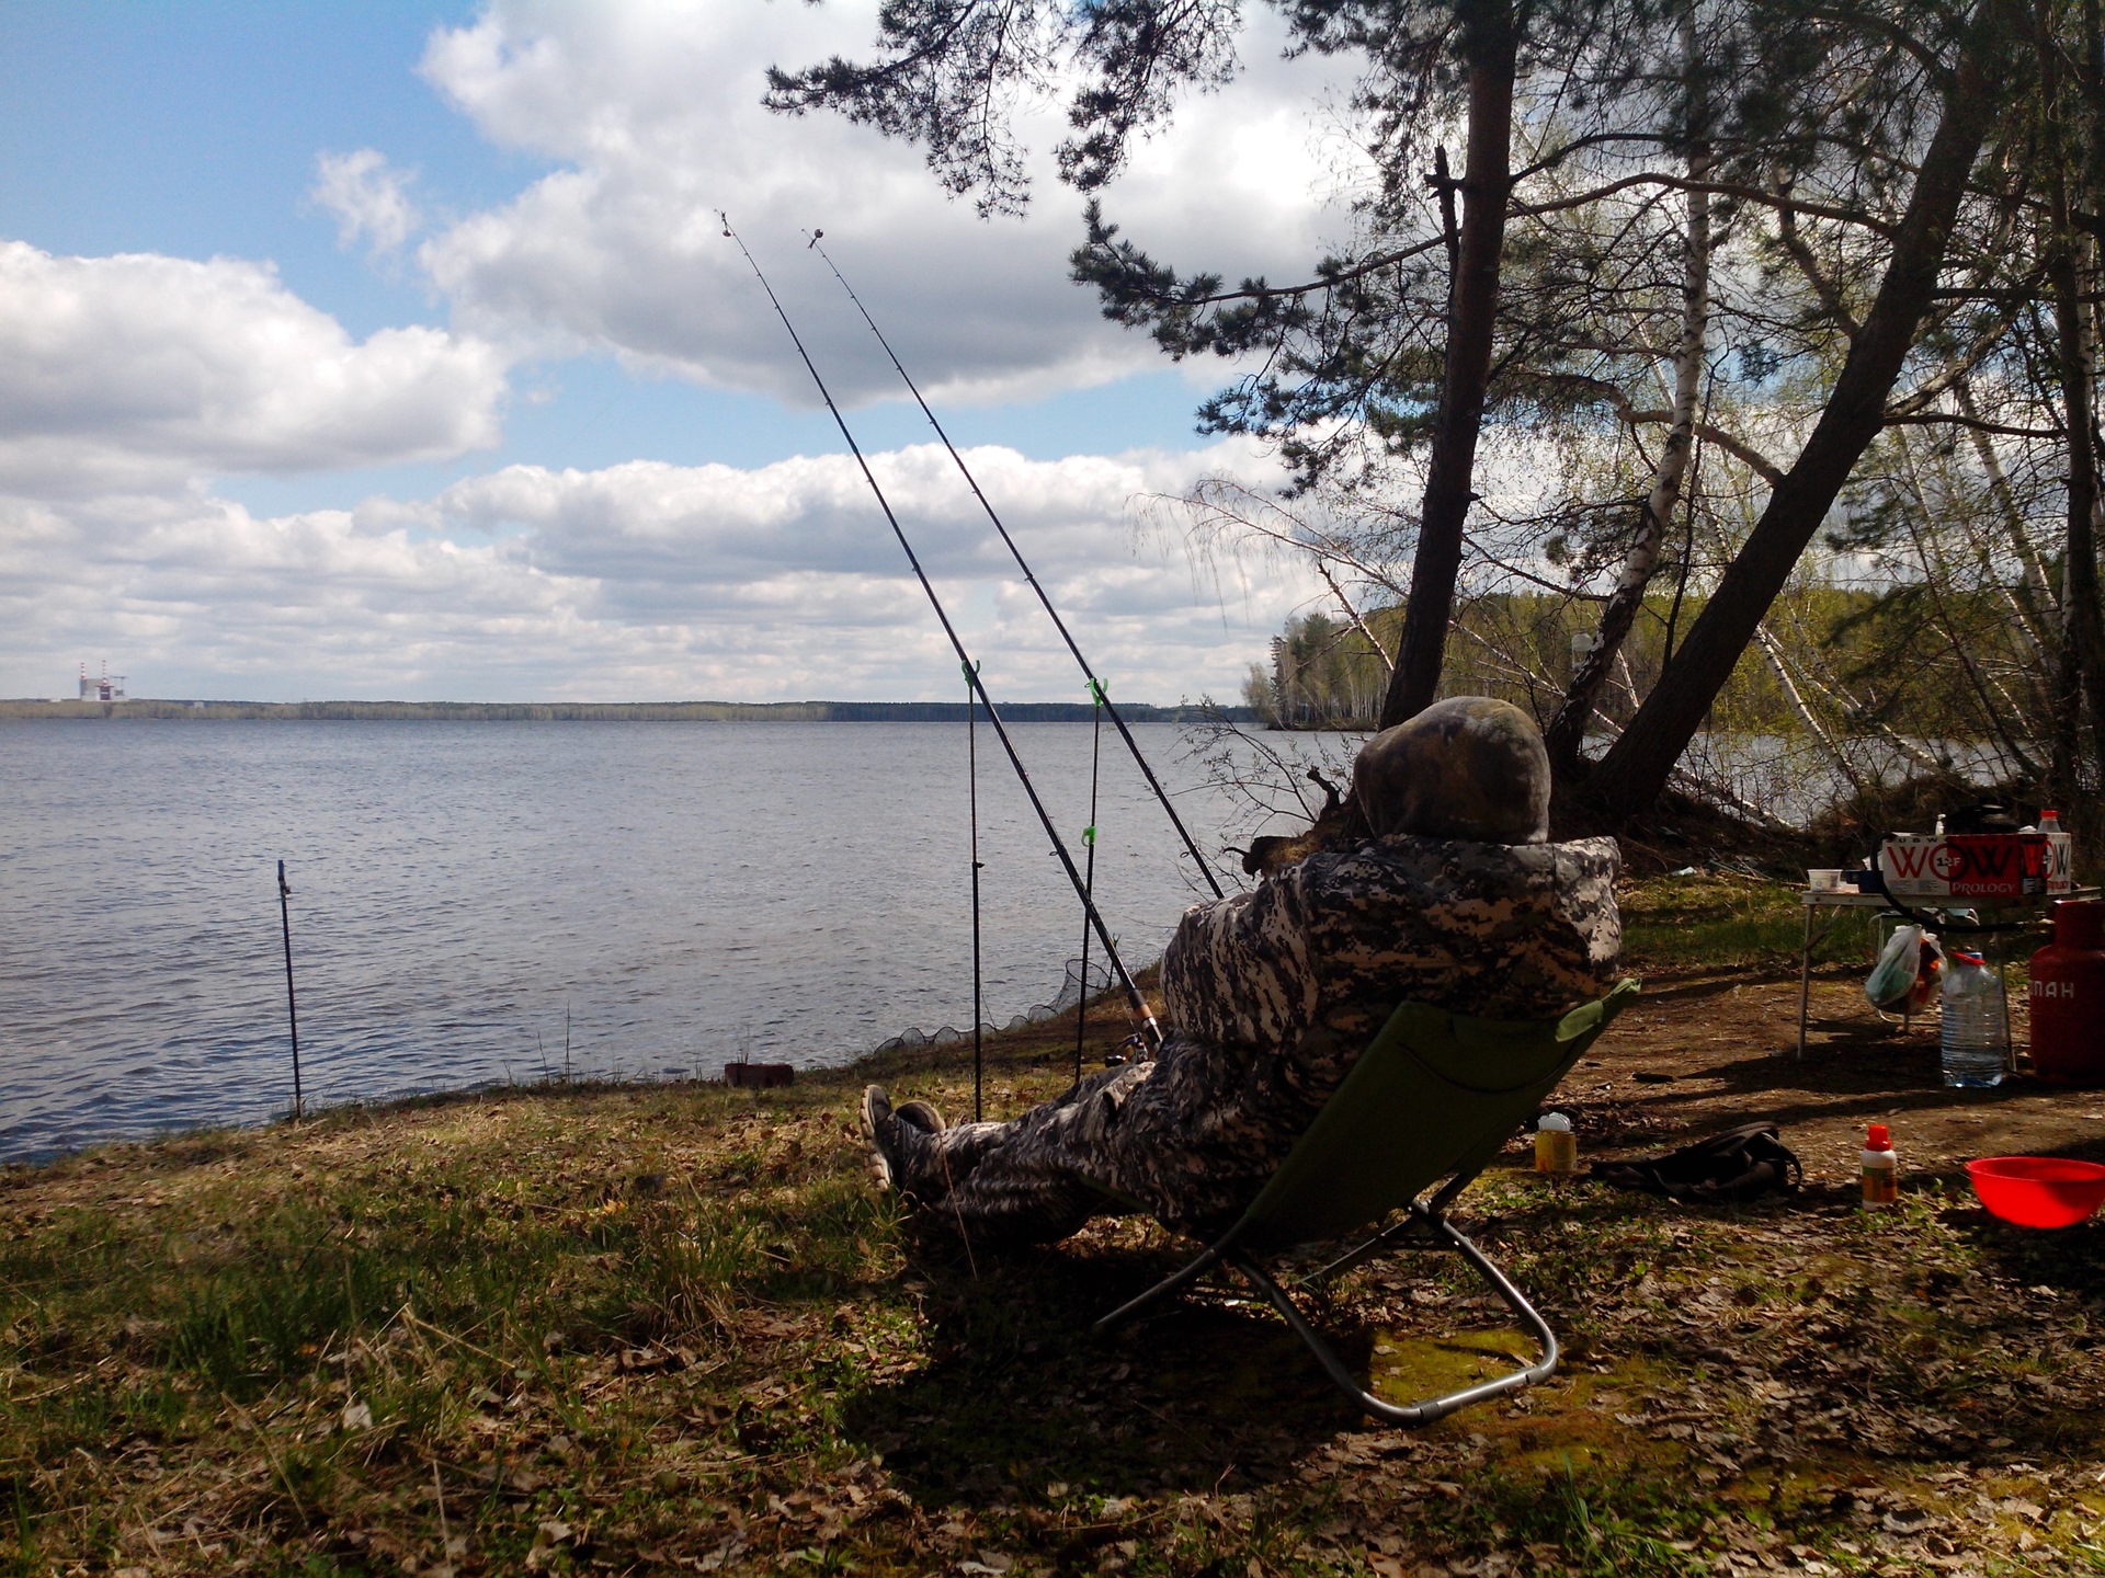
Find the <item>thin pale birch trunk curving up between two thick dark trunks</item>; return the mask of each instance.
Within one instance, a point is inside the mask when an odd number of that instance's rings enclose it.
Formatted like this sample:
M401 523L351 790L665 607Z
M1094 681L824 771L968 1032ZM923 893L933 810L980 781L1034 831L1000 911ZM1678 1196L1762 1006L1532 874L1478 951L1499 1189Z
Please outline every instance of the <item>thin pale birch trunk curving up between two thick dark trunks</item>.
M1705 107L1701 101L1703 78L1695 69L1695 11L1690 8L1682 15L1682 50L1690 67L1688 122L1692 130L1701 133ZM1600 610L1593 648L1581 659L1556 717L1543 730L1549 745L1549 772L1556 778L1570 778L1579 766L1600 688L1608 682L1608 669L1621 654L1629 627L1638 621L1644 589L1652 585L1652 570L1659 568L1659 545L1667 539L1667 522L1671 522L1673 505L1682 497L1682 478L1688 473L1688 457L1695 450L1697 391L1703 387L1703 335L1709 324L1709 191L1697 189L1695 183L1707 179L1709 147L1697 141L1688 151L1688 242L1682 252L1682 339L1673 347L1673 425L1667 429L1667 448L1652 469L1652 490L1638 515L1638 537L1629 545L1629 553L1623 555L1623 574Z

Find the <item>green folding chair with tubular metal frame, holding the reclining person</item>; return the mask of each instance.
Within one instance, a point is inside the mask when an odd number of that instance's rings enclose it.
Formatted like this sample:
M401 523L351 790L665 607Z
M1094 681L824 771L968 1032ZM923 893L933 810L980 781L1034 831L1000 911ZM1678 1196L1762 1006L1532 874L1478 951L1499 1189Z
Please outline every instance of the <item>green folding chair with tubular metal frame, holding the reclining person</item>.
M1448 1222L1446 1208L1490 1166L1513 1130L1636 995L1638 983L1623 980L1600 1002L1541 1020L1469 1018L1425 1004L1404 1004L1351 1065L1345 1084L1324 1102L1242 1218L1198 1258L1114 1309L1092 1330L1107 1332L1225 1262L1271 1300L1347 1397L1396 1424L1431 1424L1457 1408L1543 1380L1558 1368L1556 1334L1505 1273ZM1421 1199L1440 1178L1446 1182ZM1406 1212L1400 1222L1305 1277L1301 1286L1320 1286L1419 1235L1429 1248L1461 1254L1490 1283L1541 1349L1537 1363L1400 1408L1360 1387L1286 1290L1259 1265L1261 1256L1299 1243L1358 1233L1398 1208Z

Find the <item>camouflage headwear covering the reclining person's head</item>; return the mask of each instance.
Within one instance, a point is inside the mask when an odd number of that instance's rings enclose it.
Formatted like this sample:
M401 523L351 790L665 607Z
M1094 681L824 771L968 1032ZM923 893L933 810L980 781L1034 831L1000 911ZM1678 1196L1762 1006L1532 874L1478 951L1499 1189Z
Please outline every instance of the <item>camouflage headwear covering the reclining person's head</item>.
M1490 696L1436 701L1381 730L1351 766L1351 789L1377 835L1543 844L1549 751L1520 707Z

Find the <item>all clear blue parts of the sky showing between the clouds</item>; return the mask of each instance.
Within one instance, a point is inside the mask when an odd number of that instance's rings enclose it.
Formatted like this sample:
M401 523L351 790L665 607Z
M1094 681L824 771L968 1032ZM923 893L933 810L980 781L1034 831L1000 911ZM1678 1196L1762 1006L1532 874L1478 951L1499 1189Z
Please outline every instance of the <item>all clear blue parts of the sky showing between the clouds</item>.
M463 210L501 202L552 168L480 139L415 74L432 29L474 15L476 6L383 0L0 6L6 234L51 252L269 259L303 301L354 335L442 322L444 305L415 269L375 269L341 248L307 189L316 149L364 145L413 149L421 185ZM514 404L505 448L478 465L598 467L640 454L758 465L838 444L831 419L808 402L640 379L606 358L539 368L533 389L549 398ZM958 442L1008 444L1038 459L1187 448L1198 442L1200 391L1175 370L1143 370L1086 391L966 406L945 425ZM863 404L855 429L878 448L926 436L905 400ZM373 480L432 478L450 480L442 469ZM248 482L234 497L297 509L341 494L345 482Z

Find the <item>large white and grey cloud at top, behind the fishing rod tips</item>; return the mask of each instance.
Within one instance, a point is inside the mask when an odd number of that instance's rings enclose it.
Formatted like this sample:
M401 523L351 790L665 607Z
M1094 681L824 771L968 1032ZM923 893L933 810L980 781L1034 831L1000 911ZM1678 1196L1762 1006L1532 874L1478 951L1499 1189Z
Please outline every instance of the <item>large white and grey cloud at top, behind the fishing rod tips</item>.
M1246 78L1191 99L1109 198L1143 244L1231 278L1309 265L1324 183L1309 105L1328 65L1278 61L1276 19L1255 25ZM1158 364L1067 282L1078 204L1048 175L1027 221L981 223L918 149L762 109L766 65L857 55L871 32L867 6L495 0L434 34L423 72L484 137L562 168L425 240L423 267L480 335L615 349L802 404L802 368L716 223L726 208L848 398L895 385L802 250L806 227L825 229L909 368L947 398L1034 398ZM1057 105L1031 130L1042 156L1063 130Z

